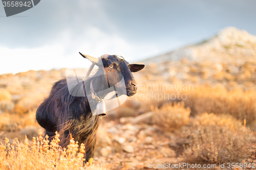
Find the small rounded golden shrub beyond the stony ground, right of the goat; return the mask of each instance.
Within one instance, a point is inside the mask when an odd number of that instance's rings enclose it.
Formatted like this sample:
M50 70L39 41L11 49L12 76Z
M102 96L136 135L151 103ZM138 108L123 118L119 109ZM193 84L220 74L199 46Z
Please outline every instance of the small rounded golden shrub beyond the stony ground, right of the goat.
M184 108L184 102L164 104L160 109L153 110L153 124L166 130L178 129L189 121L190 109Z

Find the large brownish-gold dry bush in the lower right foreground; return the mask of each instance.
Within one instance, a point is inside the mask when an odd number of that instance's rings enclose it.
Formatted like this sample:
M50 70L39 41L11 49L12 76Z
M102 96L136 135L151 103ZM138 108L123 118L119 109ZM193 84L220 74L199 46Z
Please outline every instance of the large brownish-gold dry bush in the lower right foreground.
M188 162L240 162L254 140L253 133L231 115L203 113L191 121L190 144L183 156Z

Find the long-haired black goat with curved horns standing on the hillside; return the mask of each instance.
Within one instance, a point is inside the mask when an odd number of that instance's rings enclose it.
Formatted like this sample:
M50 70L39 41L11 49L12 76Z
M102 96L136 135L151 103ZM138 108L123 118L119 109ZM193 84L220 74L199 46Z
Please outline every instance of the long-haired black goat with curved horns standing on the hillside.
M119 90L119 92L127 96L134 95L137 87L132 72L141 70L144 65L129 64L117 55L103 55L100 59L81 55L99 66L96 74L78 83L71 90L66 79L56 82L49 98L38 107L36 120L41 127L46 129L46 134L50 139L55 136L56 131L60 134L59 144L63 148L67 147L70 135L79 144L84 143L86 146L84 158L91 163L96 143L96 131L99 126L99 116L93 114L99 101L93 95L96 94L98 99L104 99L111 92L108 90L111 89L110 87L115 87L115 91L121 88L119 87L121 85L118 85L121 80L124 80L125 90ZM101 67L99 63L103 66ZM95 93L74 96L71 95L71 91L83 91L84 94L91 91Z

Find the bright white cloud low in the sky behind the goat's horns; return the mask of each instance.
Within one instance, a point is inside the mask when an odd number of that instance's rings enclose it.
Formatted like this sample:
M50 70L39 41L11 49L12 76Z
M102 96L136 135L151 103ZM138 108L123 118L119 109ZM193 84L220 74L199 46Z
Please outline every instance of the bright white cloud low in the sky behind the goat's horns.
M153 44L134 44L118 35L106 34L95 27L84 29L79 35L79 37L74 36L71 30L66 29L58 36L61 43L36 48L0 47L0 74L9 72L15 74L31 69L89 67L90 61L82 58L78 52L93 57L99 57L107 52L121 55L129 62L160 52ZM144 51L146 53L143 53Z

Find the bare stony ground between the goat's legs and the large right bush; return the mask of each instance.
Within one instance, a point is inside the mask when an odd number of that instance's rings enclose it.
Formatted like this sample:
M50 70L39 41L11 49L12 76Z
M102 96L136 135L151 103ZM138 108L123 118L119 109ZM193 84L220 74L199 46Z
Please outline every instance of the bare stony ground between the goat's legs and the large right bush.
M174 134L161 131L156 126L120 124L119 120L112 120L100 127L98 136L99 148L94 163L111 169L144 169L150 163L182 161L171 149L175 144L172 142Z

